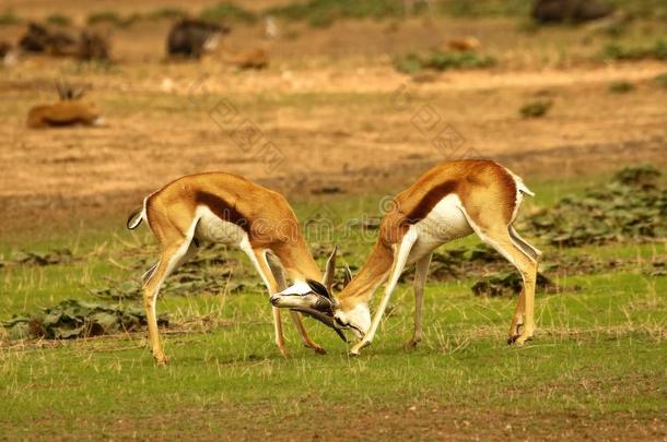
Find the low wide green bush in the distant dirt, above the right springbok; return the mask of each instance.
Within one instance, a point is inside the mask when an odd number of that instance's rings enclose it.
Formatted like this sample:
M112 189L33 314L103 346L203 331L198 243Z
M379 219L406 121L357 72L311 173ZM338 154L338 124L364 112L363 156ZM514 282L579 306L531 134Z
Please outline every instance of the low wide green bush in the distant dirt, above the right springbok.
M443 52L433 51L426 56L408 53L394 60L394 67L399 72L414 73L422 69L447 71L455 69L483 69L495 64L495 59L480 56L473 51Z

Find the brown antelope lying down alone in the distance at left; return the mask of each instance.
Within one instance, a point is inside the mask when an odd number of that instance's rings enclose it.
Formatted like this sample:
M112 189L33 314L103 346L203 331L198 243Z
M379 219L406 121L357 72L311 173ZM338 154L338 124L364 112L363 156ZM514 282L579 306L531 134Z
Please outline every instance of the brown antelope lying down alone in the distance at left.
M83 91L74 91L61 83L56 85L60 100L50 105L37 105L27 112L27 127L33 129L65 126L104 126L100 109L83 99Z

